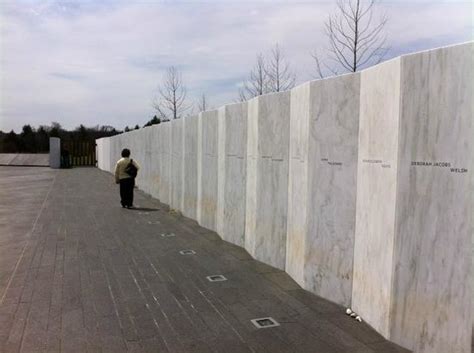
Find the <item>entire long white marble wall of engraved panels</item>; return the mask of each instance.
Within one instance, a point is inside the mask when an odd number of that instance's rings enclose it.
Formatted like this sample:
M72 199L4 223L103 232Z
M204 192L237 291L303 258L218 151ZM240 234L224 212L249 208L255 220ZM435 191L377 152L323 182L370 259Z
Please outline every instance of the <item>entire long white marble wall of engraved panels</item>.
M415 353L467 353L473 57L417 53L100 139L99 167L130 148L162 202Z

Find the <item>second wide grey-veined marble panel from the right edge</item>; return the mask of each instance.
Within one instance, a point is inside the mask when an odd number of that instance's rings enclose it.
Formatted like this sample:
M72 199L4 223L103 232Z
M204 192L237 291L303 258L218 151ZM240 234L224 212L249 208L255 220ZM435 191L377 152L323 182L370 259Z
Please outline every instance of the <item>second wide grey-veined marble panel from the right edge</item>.
M352 297L359 74L310 84L305 289L341 305Z

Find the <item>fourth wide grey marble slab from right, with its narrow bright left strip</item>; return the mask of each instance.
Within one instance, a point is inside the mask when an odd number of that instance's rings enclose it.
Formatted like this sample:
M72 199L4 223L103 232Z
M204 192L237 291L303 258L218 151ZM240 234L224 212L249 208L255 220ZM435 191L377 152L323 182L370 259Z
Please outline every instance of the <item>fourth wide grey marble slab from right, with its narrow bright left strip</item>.
M218 113L217 233L245 245L247 103L226 105Z

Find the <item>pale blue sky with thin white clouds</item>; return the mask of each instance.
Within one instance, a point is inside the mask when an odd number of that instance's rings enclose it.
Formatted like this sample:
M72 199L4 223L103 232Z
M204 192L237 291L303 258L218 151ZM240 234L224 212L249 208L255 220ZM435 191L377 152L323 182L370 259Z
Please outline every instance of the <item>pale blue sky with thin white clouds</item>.
M169 66L189 103L233 103L276 43L302 83L316 77L335 0L0 0L0 130L143 125ZM386 59L473 40L471 1L379 1Z

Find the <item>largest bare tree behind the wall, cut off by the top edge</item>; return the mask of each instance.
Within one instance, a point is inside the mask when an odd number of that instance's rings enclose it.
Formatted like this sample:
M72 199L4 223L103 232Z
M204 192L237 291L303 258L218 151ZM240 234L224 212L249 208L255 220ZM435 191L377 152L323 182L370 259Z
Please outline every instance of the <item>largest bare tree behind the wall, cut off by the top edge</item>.
M312 54L316 72L334 75L340 72L356 72L364 66L379 63L387 54L384 28L387 17L374 19L377 0L362 3L361 0L338 0L336 12L325 23L328 38L328 60L323 62L317 52Z

